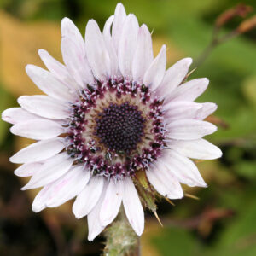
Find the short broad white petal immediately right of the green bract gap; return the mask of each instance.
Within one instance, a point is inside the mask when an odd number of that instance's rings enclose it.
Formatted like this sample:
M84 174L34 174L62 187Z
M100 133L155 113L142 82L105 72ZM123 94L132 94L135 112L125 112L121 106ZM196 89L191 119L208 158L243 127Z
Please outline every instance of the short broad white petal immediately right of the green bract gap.
M180 183L171 172L168 172L166 166L158 163L152 166L146 172L148 181L154 186L154 189L160 195L170 199L179 199L183 197L183 189Z

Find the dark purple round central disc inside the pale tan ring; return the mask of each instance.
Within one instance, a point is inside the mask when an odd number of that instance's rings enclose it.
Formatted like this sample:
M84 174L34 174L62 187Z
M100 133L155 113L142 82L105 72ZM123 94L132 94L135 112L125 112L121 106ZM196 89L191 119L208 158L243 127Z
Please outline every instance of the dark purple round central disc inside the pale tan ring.
M98 114L95 135L110 150L129 153L142 141L145 121L137 106L110 104Z

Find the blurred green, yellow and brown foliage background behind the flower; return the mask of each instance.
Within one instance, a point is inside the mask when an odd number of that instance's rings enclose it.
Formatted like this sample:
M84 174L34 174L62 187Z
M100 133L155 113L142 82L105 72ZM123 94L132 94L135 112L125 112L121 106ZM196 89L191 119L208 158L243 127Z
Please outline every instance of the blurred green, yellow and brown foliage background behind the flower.
M40 93L25 73L27 63L44 67L38 49L47 49L61 61L61 19L71 18L84 35L93 18L102 28L118 1L107 0L0 0L0 111L16 107L20 95ZM154 53L167 45L168 66L190 56L198 66L192 78L207 77L210 86L198 102L217 102L210 117L218 132L208 137L224 153L220 160L198 162L207 189L186 192L200 200L184 198L175 207L159 202L160 227L146 213L142 255L256 255L256 30L234 30L255 15L238 12L219 25L219 15L237 5L235 0L129 0L127 13L153 32ZM250 14L247 17L246 13ZM228 16L223 16L227 19ZM218 20L218 37L230 38L202 54L211 43ZM254 25L255 25L254 18ZM215 34L216 34L215 33ZM231 33L231 34L230 34ZM226 36L228 35L228 36ZM225 40L225 39L224 39ZM201 57L200 57L201 56ZM9 157L31 141L9 133L0 120L0 254L99 255L104 238L87 241L87 221L75 219L72 202L40 213L31 210L37 191L20 191L26 178L15 177L17 166Z

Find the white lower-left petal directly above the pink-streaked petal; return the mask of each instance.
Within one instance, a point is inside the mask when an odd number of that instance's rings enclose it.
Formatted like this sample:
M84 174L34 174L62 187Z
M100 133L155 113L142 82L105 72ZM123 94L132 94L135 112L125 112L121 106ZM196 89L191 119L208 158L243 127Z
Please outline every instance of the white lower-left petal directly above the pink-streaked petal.
M64 175L72 166L73 159L69 157L67 152L57 154L44 161L44 165L38 169L30 181L22 188L26 189L36 189L42 187L48 183L51 183Z

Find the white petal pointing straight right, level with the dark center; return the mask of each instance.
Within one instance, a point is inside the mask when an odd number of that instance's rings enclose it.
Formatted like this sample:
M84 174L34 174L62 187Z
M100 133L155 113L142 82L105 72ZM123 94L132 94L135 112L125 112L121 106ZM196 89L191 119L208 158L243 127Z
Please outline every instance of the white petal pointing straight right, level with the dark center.
M212 134L217 127L195 119L177 119L167 125L167 137L178 140L194 140Z

